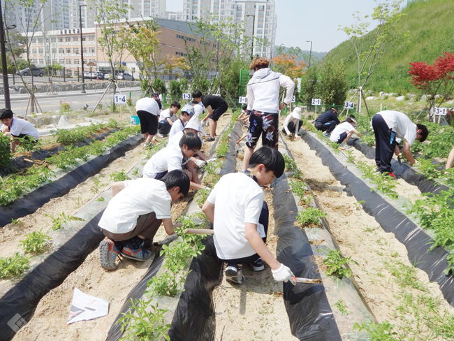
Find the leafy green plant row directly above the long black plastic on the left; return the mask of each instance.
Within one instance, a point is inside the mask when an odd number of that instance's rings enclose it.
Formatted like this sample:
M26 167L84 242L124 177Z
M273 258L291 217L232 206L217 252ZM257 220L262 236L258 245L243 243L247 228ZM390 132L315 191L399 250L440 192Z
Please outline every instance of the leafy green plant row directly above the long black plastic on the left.
M94 141L83 147L66 147L66 150L53 155L47 159L47 162L55 168L66 169L78 164L80 160L87 161L92 155L103 154L109 147L117 145L136 133L138 133L138 127L130 126L122 131L112 133L103 141ZM15 201L40 185L52 181L53 177L54 172L47 166L31 166L24 174L17 173L0 178L0 205L7 205Z

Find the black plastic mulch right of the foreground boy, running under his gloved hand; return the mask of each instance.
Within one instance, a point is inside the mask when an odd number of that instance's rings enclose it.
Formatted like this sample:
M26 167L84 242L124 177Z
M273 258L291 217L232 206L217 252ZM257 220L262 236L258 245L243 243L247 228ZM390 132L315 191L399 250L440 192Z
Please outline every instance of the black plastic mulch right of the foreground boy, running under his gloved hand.
M319 278L305 231L293 226L298 208L285 175L274 182L274 234L277 260L297 277ZM342 340L323 284L284 282L284 304L293 335L302 341Z

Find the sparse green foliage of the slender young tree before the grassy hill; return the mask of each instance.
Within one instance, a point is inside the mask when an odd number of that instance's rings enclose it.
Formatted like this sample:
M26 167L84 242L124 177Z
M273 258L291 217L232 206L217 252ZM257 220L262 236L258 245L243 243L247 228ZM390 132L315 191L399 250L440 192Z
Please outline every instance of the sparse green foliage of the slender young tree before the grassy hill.
M355 24L349 27L339 28L349 36L358 59L358 89L362 89L370 76L374 73L376 66L380 63L386 52L393 47L403 32L398 30L397 24L405 15L400 13L400 4L403 0L385 0L377 3L372 13L372 20L378 22L374 31L369 33L370 22L362 22L359 12L353 13ZM365 18L369 17L366 15ZM369 34L367 34L369 33ZM358 97L358 108L359 97Z

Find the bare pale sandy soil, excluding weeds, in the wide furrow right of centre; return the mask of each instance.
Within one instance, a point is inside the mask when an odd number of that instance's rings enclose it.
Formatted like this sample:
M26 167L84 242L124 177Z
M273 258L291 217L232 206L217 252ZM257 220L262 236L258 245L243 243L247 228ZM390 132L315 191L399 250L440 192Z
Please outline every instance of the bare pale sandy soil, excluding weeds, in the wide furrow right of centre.
M399 325L401 321L395 319L395 310L402 294L423 293L409 287L403 289L389 271L390 265L403 264L413 268L406 247L393 233L384 232L373 217L357 209L356 199L342 191L342 184L335 180L328 167L323 166L321 159L306 143L301 140L290 141L288 138L286 142L298 167L303 170L305 181L314 191L323 211L328 214L326 219L342 253L358 262L358 265L351 263L353 277L372 312L379 321L388 320ZM400 194L416 194L411 188L406 192L404 184L402 188L397 189ZM430 283L422 270L414 268L414 274L413 280L423 282L432 297L441 298L441 307L452 314L454 308L444 300L439 285ZM330 302L330 305L334 303Z

